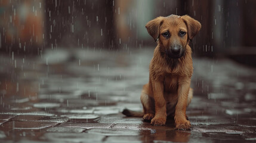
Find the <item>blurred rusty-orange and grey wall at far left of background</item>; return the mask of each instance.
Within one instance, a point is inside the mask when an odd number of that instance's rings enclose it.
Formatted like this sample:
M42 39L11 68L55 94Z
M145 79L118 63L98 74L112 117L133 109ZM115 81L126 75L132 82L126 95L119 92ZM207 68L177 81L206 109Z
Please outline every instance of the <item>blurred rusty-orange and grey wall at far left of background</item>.
M44 46L44 1L0 1L0 49L37 52Z

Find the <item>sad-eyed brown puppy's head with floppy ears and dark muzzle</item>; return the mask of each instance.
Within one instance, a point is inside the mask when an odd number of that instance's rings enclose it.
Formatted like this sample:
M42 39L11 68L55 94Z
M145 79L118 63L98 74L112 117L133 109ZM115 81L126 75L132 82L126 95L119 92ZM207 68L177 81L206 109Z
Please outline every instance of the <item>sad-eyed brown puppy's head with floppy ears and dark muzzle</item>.
M159 41L161 52L169 58L180 58L189 41L201 29L201 24L189 15L169 15L149 21L146 28L149 35Z

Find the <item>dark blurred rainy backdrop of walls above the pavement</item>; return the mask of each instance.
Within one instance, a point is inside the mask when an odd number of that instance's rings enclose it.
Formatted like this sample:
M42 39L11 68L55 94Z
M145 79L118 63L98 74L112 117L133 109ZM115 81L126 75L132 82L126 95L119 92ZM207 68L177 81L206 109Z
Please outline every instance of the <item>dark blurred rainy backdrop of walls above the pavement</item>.
M202 24L194 55L228 56L255 66L256 1L1 0L0 51L40 55L44 49L155 46L144 28L160 15L188 14Z

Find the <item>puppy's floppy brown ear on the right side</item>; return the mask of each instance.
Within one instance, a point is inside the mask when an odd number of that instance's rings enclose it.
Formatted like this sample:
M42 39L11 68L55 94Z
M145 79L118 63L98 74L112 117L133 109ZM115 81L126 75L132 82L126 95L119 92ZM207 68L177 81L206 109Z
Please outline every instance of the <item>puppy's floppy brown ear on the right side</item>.
M189 39L193 39L201 29L201 24L199 21L191 18L189 15L183 15L181 18L183 19L184 23L187 24L187 33L189 35Z

